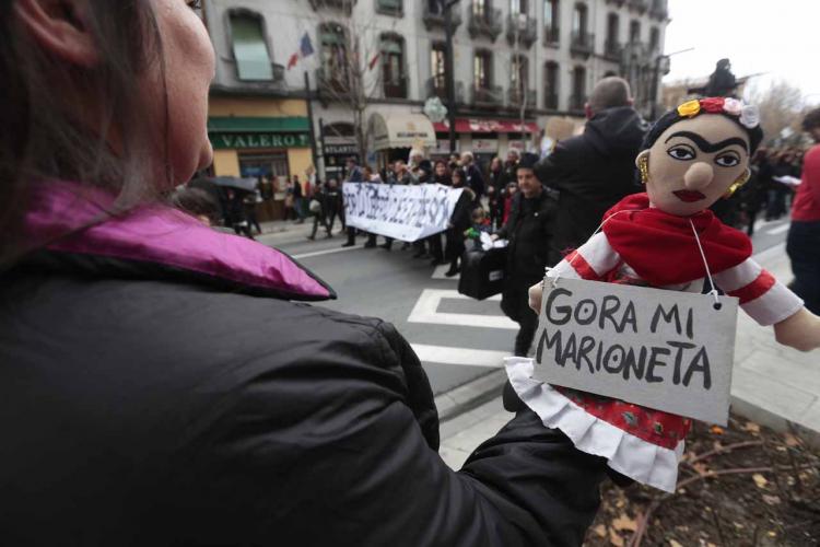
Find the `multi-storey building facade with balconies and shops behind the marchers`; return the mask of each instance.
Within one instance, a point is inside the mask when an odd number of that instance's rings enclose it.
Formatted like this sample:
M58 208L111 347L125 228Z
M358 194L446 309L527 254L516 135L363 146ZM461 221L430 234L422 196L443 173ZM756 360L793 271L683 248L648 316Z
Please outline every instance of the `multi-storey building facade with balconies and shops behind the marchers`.
M226 147L218 171L242 173L253 163L247 158L270 153L280 165L288 158L289 174L301 174L315 153L332 176L350 155L379 164L411 147L449 152L448 125L421 114L430 97L447 103L438 0L206 0L204 7L219 59L211 113L223 118L212 138ZM666 0L460 0L452 10L460 150L490 158L537 147L551 118L583 117L589 90L605 75L629 79L646 115L660 100ZM231 117L260 130L238 141L249 149L231 148L236 139L216 131L230 128L224 118ZM281 117L292 119L259 119ZM278 133L291 138L268 147Z

